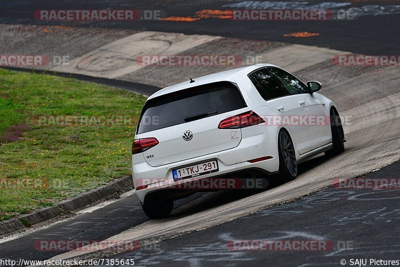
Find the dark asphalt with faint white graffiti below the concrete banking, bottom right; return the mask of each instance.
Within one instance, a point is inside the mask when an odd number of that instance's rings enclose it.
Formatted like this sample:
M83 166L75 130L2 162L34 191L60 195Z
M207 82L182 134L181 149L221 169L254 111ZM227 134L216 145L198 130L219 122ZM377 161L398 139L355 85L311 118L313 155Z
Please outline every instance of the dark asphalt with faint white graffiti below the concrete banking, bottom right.
M400 161L366 178L399 178ZM135 265L341 266L345 259L400 259L399 189L329 188L202 231L124 252ZM230 240L329 240L325 251L232 251ZM369 266L369 264L367 264Z

